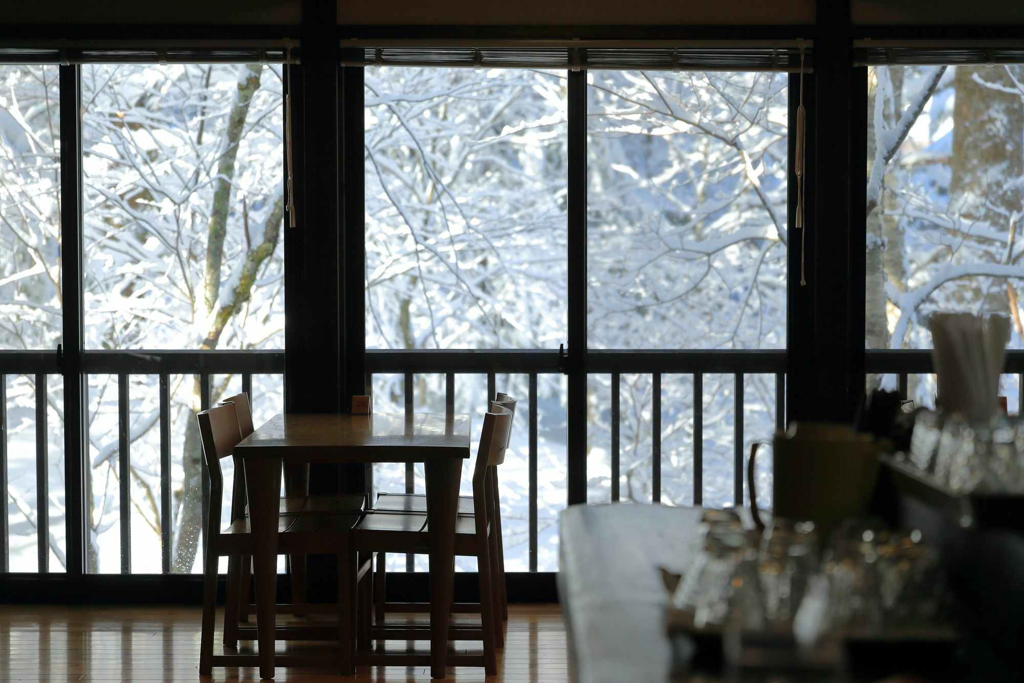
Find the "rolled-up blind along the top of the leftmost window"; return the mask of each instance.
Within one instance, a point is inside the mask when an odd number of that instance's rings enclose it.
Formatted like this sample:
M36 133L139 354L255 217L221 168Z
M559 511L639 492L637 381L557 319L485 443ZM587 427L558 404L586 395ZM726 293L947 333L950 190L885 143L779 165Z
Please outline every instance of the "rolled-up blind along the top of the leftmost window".
M292 45L82 47L0 45L0 64L298 64Z

